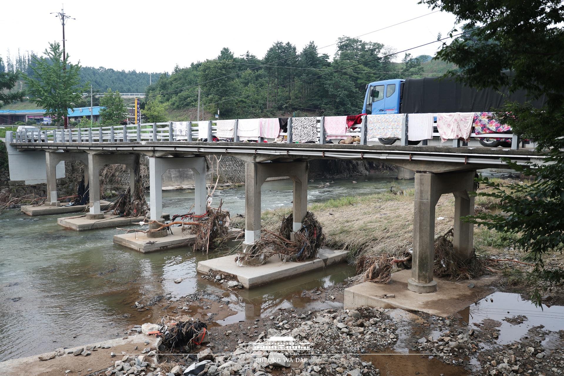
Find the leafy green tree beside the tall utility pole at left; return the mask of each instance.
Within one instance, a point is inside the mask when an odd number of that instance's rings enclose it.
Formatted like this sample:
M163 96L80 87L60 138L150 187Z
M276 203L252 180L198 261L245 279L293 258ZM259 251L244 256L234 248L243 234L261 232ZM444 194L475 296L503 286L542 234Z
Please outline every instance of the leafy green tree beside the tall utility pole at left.
M67 54L65 67L63 51L57 42L49 43L49 48L43 54L47 57L32 56L32 74L26 82L31 100L45 109L45 116L57 122L67 116L68 109L80 101L81 93L85 90L80 86L80 61L77 64L69 63Z

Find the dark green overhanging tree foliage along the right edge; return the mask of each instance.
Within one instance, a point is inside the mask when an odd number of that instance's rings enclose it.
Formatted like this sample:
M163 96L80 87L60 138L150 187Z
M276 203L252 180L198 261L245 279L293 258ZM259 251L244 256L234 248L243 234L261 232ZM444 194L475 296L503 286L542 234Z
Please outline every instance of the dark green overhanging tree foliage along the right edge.
M528 274L535 287L532 296L564 282L564 269L545 263L543 256L562 252L564 242L564 5L557 0L422 0L430 7L452 12L464 22L464 37L443 45L437 59L455 63L462 82L477 88L506 86L527 90L530 99L544 96L543 108L505 103L499 120L515 134L535 140L536 151L547 164L509 165L534 176L530 183L499 184L481 179L493 192L482 193L500 201L505 213L468 218L490 229L514 235L515 246L535 263ZM454 31L454 30L453 30ZM511 74L501 71L510 69ZM541 283L536 283L536 282Z

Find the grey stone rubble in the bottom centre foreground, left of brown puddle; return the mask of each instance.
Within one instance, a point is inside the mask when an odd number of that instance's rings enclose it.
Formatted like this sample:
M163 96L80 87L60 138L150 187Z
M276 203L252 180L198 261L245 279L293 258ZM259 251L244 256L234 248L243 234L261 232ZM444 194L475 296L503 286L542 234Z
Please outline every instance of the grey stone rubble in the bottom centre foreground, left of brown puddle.
M396 341L396 328L386 316L386 311L369 307L338 311L326 309L299 317L292 314L288 319L284 319L281 313L277 317L271 316L273 321L266 332L257 334L258 339L291 335L297 341L307 340L312 343L312 349L303 353L281 350L269 352L255 348L250 341L239 339L239 344L229 355L216 355L211 348L205 348L182 359L177 357L177 364L166 363L166 367L143 355L124 355L105 370L105 375L268 376L275 370L281 370L283 374L296 376L377 376L380 371L371 362L363 361L358 356L339 354L369 353L393 344ZM190 373L191 368L201 368L201 371Z

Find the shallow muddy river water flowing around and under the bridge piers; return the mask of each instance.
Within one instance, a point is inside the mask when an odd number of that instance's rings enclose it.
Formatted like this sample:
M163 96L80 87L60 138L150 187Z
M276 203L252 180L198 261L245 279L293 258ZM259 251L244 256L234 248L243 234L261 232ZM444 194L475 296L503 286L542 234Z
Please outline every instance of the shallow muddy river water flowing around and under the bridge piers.
M332 181L328 187L319 188ZM391 185L408 189L413 187L413 180L396 180L394 174L316 179L309 182L308 200L362 196L388 191ZM244 187L217 192L214 197L214 204L221 198L232 215L244 213ZM163 201L166 213L183 214L193 203L193 191L165 192ZM291 206L291 202L290 180L263 185L262 210ZM137 253L113 244L116 229L69 231L56 224L57 217L29 217L16 210L0 214L0 361L122 337L126 328L142 324L149 315L131 306L136 301L146 304L156 295L182 297L196 291L222 291L232 300L230 308L237 312L220 320L223 325L241 317L267 315L278 307L342 306L300 299L300 294L336 284L353 272L351 267L327 268L293 278L291 285L281 282L240 290L241 296L236 297L196 278L196 264L206 255L188 248ZM184 281L174 284L178 277Z

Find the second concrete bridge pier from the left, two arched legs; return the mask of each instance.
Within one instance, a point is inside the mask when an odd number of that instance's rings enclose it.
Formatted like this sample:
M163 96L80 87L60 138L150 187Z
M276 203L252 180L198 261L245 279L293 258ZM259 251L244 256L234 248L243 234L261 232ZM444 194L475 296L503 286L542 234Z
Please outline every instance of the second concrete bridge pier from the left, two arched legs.
M96 154L88 153L88 182L90 210L86 219L103 219L100 210L100 169L105 165L123 164L129 169L130 192L135 190L135 155L134 154Z

